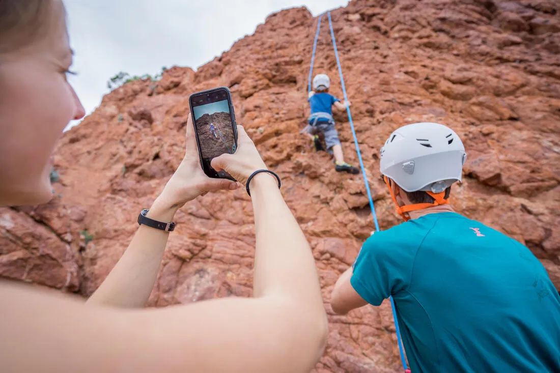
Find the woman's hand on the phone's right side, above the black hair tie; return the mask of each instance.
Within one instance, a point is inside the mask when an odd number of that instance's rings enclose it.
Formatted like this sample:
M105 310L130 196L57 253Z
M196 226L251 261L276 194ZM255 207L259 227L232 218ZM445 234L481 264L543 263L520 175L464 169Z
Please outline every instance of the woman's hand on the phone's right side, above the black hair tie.
M211 162L216 171L224 170L243 185L256 170L268 170L256 150L255 144L240 125L237 126L237 150L234 154L222 154Z

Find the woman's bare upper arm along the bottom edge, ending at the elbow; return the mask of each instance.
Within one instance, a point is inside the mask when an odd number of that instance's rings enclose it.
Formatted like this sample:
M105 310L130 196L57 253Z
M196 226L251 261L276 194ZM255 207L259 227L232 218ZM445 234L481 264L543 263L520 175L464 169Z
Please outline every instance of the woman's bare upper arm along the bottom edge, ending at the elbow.
M2 282L0 299L2 372L307 373L324 343L280 299L125 310Z

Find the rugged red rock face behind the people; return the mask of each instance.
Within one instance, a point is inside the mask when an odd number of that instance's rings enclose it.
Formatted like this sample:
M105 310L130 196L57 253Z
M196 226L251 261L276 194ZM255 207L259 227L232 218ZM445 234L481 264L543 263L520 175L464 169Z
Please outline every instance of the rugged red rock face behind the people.
M379 179L380 147L401 125L444 123L469 153L455 208L527 245L560 288L558 12L545 0L353 0L333 12L381 229L400 218ZM328 302L374 223L361 175L335 172L299 133L315 25L305 8L282 11L196 73L174 67L157 83L111 92L64 134L55 153L59 196L0 209L0 274L90 295L183 157L189 94L228 86L237 122L282 177L317 261L330 338L315 372L401 371L388 302L348 316L332 314ZM328 73L330 92L342 96L326 22L314 72ZM335 120L357 164L346 114ZM198 198L176 223L150 306L251 295L254 220L244 190Z

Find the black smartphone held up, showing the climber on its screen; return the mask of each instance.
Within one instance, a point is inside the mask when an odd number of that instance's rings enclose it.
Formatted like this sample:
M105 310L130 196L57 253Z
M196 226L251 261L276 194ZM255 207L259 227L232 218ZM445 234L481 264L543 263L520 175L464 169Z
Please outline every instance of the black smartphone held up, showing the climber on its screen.
M226 171L216 171L210 163L224 153L237 149L237 125L231 92L227 87L197 92L189 97L200 165L210 178L236 181Z

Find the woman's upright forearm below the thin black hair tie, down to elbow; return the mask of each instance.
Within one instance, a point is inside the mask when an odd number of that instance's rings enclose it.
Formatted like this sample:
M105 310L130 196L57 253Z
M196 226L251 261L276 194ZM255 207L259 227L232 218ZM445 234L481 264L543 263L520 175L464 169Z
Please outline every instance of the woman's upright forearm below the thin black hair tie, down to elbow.
M258 174L250 191L256 230L254 296L276 293L324 312L315 259L276 179Z

